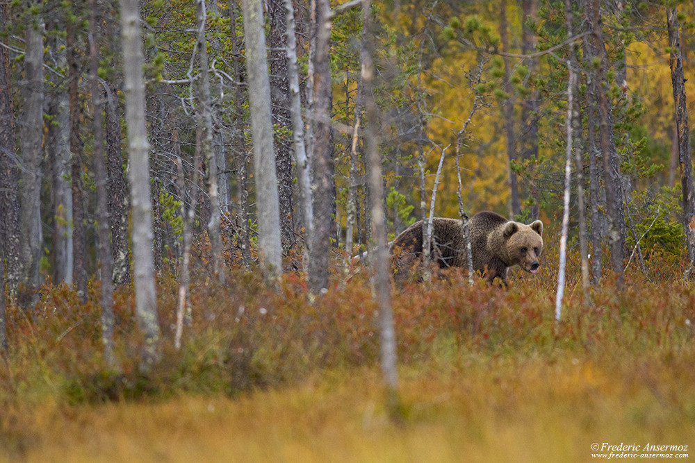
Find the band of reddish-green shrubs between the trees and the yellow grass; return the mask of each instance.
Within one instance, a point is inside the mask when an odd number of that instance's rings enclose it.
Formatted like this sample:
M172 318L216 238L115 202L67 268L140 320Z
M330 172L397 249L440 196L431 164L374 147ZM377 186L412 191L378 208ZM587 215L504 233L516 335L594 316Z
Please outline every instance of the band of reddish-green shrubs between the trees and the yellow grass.
M547 255L536 276L510 276L509 289L482 279L469 287L466 276L455 272L445 280L395 288L399 364L460 371L470 362L541 358L551 365L580 357L621 371L626 364L642 370L650 362L673 365L695 382L689 367L695 362L695 289L678 278L684 262L652 255L651 275L635 266L622 291L605 278L584 301L577 256L570 255L564 314L556 323L557 263ZM69 409L183 394L234 397L292 385L317 371L379 362L379 317L364 270L347 282L336 271L332 287L313 304L307 303L305 280L296 273L284 276L279 291L266 287L257 273L238 269L229 272L224 286L211 281L198 276L191 287L193 322L177 351L177 283L159 280L161 360L147 371L138 368L142 339L129 287L115 294L117 371L108 369L102 356L98 282L90 286L86 305L64 285L46 285L34 311L8 308L10 349L0 362L0 445L31 440L15 435L28 419L24 412L47 404ZM690 412L695 420L695 410Z

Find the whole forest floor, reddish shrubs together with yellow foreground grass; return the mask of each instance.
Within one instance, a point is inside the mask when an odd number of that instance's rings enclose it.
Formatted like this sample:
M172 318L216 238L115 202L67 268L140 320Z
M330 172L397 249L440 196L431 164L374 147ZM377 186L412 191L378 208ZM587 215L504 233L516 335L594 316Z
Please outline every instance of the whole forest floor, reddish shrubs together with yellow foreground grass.
M555 323L554 270L544 271L514 276L508 290L464 278L395 290L398 421L384 407L363 281L313 305L301 278L279 292L243 275L224 288L199 282L181 351L175 291L162 282L162 360L147 373L132 294L120 292L116 376L104 369L98 308L74 310L73 292L44 288L31 316L8 312L0 461L695 457L695 288L637 275L622 292L607 280L584 304L571 275Z

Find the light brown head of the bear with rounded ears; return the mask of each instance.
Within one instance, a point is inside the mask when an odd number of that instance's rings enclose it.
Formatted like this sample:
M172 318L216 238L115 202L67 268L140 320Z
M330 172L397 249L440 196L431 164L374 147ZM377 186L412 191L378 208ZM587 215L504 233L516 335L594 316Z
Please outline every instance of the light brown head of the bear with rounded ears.
M540 266L538 258L543 252L543 222L537 220L530 225L507 222L505 246L509 264L516 264L525 271L536 273Z

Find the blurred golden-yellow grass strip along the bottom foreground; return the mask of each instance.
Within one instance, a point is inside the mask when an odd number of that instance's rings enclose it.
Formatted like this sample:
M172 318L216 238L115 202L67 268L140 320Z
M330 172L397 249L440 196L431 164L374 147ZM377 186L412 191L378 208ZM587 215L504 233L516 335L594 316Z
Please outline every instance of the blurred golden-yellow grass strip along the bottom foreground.
M587 462L594 442L695 444L692 351L455 357L402 367L401 425L386 418L377 369L350 369L236 399L44 404L22 414L0 460Z

